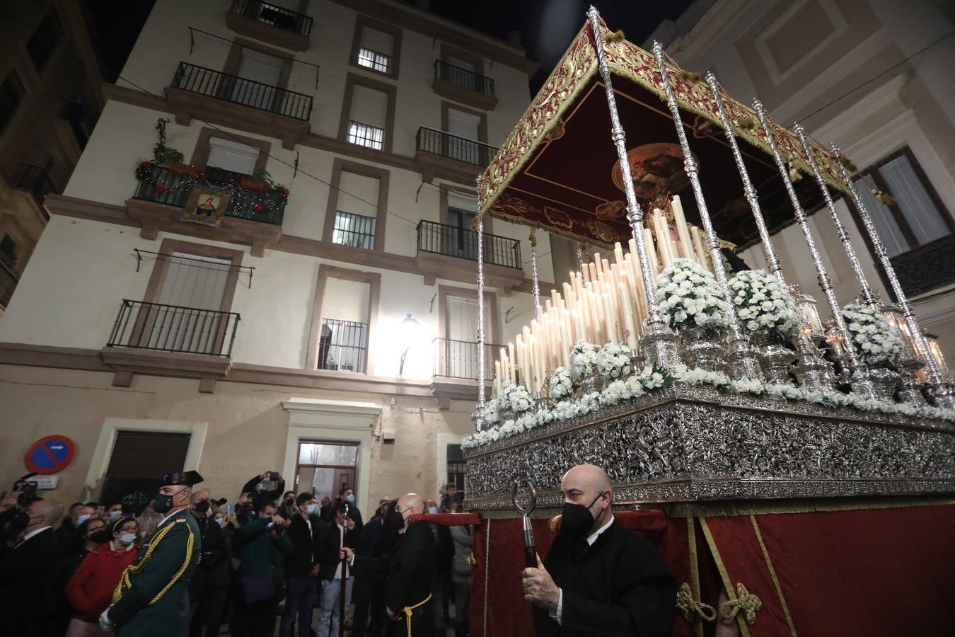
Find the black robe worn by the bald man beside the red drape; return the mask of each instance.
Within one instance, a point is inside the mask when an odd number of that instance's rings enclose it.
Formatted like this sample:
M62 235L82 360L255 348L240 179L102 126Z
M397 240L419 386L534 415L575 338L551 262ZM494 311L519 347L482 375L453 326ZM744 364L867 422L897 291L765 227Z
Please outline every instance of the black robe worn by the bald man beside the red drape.
M562 623L535 614L545 634L668 635L676 583L660 551L614 520L593 545L558 536L543 562L563 590ZM540 630L540 628L539 628Z

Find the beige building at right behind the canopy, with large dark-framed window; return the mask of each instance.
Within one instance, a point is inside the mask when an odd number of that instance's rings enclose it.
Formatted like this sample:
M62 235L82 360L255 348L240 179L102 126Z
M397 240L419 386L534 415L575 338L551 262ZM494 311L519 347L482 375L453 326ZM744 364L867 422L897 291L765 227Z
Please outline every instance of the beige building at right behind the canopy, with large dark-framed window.
M800 121L837 143L864 176L859 194L920 325L955 358L955 11L891 0L698 0L648 38L691 71L712 70L735 98L758 97L782 125ZM702 167L701 170L706 170ZM873 190L894 202L876 200ZM884 272L855 207L836 202L867 281L890 303ZM717 212L717 214L719 214ZM811 217L840 303L859 284L825 208ZM820 301L795 224L773 236L787 279ZM765 265L758 245L741 252ZM823 311L823 314L828 312Z

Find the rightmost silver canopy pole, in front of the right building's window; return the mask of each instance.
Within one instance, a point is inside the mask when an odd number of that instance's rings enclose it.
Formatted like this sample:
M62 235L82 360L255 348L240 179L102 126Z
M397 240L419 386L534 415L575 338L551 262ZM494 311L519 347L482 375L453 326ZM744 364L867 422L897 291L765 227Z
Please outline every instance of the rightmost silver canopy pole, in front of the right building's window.
M833 144L832 148L836 154L836 158L841 157L842 151L839 150L838 146ZM892 266L892 261L889 259L888 252L885 250L885 244L882 243L879 232L876 231L876 226L872 223L869 210L865 207L865 203L862 202L862 198L859 197L859 191L856 190L856 184L853 182L849 170L842 165L841 161L838 162L838 165L839 170L842 172L842 180L845 181L845 184L849 187L849 195L856 204L856 209L859 210L859 218L862 220L862 225L865 226L865 231L872 241L872 247L876 251L876 256L879 257L882 269L885 270L885 276L888 277L889 285L895 293L896 301L899 307L902 308L902 316L905 317L905 323L908 325L909 331L912 332L912 339L918 346L918 350L921 350L914 353L916 356L919 356L921 353L925 359L925 364L928 368L929 397L936 407L955 409L955 390L952 389L951 384L945 379L944 373L941 368L939 368L939 362L935 360L935 356L932 355L931 350L928 348L928 341L925 339L922 329L919 328L919 322L915 318L915 310L913 310L912 306L908 303L908 297L905 296L902 284L899 283L899 277L896 276L895 268Z

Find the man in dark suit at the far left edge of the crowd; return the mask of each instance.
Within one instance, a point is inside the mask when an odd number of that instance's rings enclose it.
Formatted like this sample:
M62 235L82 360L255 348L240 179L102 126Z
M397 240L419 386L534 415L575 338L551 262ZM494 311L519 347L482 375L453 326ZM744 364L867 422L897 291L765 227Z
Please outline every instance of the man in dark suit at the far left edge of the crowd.
M0 599L4 613L3 633L43 637L57 632L54 605L60 550L53 525L63 517L63 504L55 499L37 499L25 508L30 520L20 541L0 557Z

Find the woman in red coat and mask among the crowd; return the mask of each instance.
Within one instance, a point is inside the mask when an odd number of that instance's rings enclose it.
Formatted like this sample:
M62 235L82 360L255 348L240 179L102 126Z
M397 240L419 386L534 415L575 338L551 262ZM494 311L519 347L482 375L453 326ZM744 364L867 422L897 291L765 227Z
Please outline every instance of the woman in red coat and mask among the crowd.
M119 518L110 524L113 539L90 551L76 569L66 594L73 606L73 619L66 637L108 637L99 627L99 615L113 601L113 591L126 566L136 557L136 520Z

